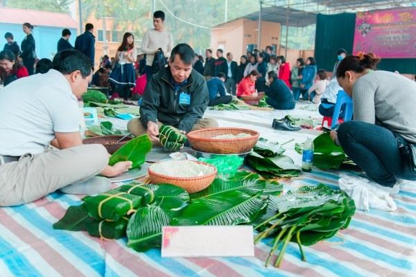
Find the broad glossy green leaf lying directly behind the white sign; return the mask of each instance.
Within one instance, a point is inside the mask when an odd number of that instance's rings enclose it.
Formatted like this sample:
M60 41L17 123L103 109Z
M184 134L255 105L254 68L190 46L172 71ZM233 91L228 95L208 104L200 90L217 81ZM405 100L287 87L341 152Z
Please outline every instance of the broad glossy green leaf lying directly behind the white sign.
M171 225L236 225L254 219L263 207L260 196L231 191L195 199Z

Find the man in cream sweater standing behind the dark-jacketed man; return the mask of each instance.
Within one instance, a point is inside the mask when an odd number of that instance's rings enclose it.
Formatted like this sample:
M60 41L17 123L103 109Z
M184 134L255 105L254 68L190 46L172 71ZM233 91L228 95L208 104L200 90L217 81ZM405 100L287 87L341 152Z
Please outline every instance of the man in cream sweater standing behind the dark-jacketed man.
M153 13L153 26L155 28L146 31L141 42L141 52L146 54L146 79L149 82L153 76L152 64L155 54L162 49L164 56L169 58L173 48L173 37L164 29L165 15L162 10Z

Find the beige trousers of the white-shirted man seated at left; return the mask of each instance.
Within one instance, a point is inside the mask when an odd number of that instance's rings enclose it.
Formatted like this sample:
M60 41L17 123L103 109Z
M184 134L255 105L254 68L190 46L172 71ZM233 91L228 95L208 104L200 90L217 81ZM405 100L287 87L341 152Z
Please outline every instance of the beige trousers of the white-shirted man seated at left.
M0 206L28 203L99 174L108 164L101 144L88 144L36 155L0 166Z

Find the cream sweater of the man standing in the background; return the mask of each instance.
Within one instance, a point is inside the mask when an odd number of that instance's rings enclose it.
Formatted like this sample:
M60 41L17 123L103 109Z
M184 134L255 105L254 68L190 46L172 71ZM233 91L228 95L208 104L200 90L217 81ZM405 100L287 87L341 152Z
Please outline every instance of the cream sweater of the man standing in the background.
M146 65L151 66L155 58L154 51L162 48L164 56L170 57L173 49L173 37L166 31L159 32L154 28L144 33L141 51L146 54Z

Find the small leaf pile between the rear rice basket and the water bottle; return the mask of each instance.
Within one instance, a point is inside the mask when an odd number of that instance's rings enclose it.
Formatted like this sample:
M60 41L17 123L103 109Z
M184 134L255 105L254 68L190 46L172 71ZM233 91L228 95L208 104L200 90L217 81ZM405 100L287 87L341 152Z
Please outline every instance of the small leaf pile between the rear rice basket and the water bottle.
M244 162L265 178L299 176L301 167L295 165L290 157L282 155L284 151L278 142L269 142L260 137L253 151L245 157Z

